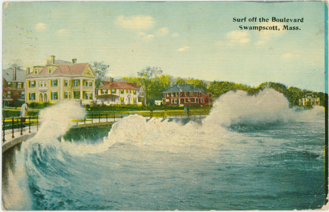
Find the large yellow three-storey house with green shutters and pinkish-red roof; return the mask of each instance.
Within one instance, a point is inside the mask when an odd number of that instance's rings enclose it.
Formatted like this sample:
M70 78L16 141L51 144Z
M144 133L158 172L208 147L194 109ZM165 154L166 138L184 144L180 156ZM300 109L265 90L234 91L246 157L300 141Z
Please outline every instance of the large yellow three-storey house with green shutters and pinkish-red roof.
M26 68L26 102L56 103L64 99L90 104L95 98L95 73L89 63L55 60Z

